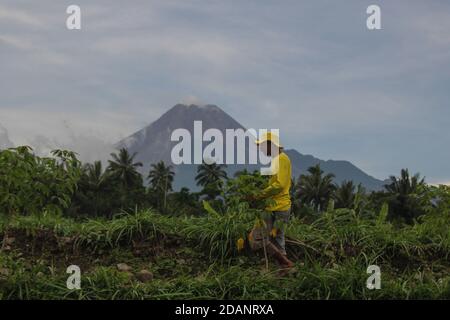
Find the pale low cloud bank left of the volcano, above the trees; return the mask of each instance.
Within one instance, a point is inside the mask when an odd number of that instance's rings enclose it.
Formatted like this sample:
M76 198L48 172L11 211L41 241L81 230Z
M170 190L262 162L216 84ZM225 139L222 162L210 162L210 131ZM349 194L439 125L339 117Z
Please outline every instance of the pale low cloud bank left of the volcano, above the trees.
M127 124L130 118L116 113L100 112L84 118L76 113L57 113L43 108L15 112L0 109L0 118L7 123L17 116L22 120L11 130L16 145L29 145L41 156L48 156L55 149L72 150L85 162L106 161L110 153L115 152L113 144L133 130L133 125ZM0 148L7 141L8 131L0 126Z

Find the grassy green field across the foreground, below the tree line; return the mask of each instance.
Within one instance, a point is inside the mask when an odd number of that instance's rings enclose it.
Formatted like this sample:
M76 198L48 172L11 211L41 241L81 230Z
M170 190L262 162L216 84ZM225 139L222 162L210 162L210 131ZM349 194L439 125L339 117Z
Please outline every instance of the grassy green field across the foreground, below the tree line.
M264 255L238 252L235 229L213 217L152 211L112 220L18 217L0 255L1 299L449 299L449 218L395 229L333 210L288 227L293 272L265 268ZM432 231L432 232L431 232ZM120 271L118 264L132 268ZM81 290L66 287L79 265ZM366 287L381 268L381 289ZM142 279L141 270L150 276Z

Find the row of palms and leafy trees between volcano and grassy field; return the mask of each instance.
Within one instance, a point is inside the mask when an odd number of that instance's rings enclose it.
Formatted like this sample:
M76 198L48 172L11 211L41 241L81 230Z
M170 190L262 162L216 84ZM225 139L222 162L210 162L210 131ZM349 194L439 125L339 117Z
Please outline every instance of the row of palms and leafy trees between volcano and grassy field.
M3 150L0 210L21 214L54 210L74 217L111 218L122 211L153 207L167 214L198 215L204 212L203 199L224 205L221 195L229 181L258 175L243 170L230 178L226 165L204 163L197 167L195 177L199 192L188 188L174 191L172 166L160 161L152 164L146 175L140 173L142 167L136 153L130 154L127 149L112 153L106 166L100 161L82 164L69 151L55 151L52 158L40 158L29 147ZM398 177L391 176L383 190L368 192L352 181L336 184L333 174L325 174L316 165L293 179L292 211L313 217L333 206L358 208L370 215L387 203L390 218L410 223L424 214L421 208L426 190L425 180L419 174L411 176L408 169Z

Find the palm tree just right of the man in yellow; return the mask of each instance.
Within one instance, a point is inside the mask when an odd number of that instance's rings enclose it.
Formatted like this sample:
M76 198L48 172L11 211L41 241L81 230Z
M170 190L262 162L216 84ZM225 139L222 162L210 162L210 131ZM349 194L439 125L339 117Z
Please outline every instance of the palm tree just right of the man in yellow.
M336 186L334 174L323 175L320 165L310 167L309 175L301 175L296 194L303 203L310 204L316 211L324 208L331 198Z

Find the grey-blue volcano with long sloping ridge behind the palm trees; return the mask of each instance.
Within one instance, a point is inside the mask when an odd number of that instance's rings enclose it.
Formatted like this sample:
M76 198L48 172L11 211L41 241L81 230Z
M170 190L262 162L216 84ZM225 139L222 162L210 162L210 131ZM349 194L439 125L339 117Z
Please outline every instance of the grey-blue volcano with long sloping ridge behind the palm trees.
M148 170L150 164L161 160L171 164L171 150L178 143L170 140L171 133L175 129L184 128L192 135L194 121L202 121L203 130L216 128L222 133L226 129L246 129L217 105L199 106L179 103L166 111L156 121L119 141L115 147L117 149L127 148L131 153L136 152L136 160L144 163L145 170ZM335 175L336 183L352 180L356 184L361 183L368 190L379 190L384 184L382 180L370 176L347 160L322 160L313 155L304 155L296 149L286 149L285 152L291 159L292 173L295 179L300 174L304 174L309 167L320 164L325 173ZM196 165L174 166L176 172L175 189L188 187L191 190L198 190L195 185L196 168ZM227 171L229 175L232 175L244 168L256 169L257 166L229 165Z

